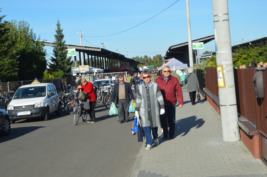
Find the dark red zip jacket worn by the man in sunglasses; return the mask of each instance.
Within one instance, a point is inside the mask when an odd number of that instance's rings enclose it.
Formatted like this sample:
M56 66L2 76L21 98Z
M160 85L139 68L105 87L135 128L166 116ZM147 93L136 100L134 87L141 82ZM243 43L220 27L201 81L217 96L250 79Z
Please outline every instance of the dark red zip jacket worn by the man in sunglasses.
M184 104L181 85L177 78L170 75L166 82L162 75L156 79L155 83L157 83L160 88L165 105L176 104L177 97L178 103Z

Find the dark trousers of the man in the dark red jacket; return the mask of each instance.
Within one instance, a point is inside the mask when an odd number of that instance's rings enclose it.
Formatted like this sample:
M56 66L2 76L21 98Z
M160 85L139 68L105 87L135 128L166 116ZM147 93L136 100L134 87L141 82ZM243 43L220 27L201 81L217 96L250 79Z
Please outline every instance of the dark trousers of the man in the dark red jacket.
M175 104L165 105L165 113L160 115L160 123L163 129L163 134L165 137L168 136L168 126L167 126L167 116L169 119L169 136L174 136L175 133Z

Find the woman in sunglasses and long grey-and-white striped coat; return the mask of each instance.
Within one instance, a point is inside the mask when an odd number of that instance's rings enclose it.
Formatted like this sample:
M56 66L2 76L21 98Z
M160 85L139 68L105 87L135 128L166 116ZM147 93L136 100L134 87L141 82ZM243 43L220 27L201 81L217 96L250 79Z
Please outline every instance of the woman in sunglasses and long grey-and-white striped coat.
M141 73L144 83L139 86L136 98L135 116L138 117L140 111L140 121L144 127L147 147L152 149L152 135L154 144L159 145L158 126L160 125L160 115L165 113L164 101L158 84L151 82L151 73L144 70Z

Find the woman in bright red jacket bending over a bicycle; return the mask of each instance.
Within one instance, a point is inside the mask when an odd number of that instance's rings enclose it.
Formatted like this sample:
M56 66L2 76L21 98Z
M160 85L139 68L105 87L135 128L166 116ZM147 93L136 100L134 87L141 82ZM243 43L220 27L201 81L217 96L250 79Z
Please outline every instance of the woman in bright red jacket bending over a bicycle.
M86 79L81 79L81 84L78 85L78 89L81 89L82 92L87 93L87 99L90 100L90 109L88 109L88 114L90 116L89 121L87 123L95 123L96 122L96 114L95 114L95 103L96 103L96 94L91 82L87 82Z

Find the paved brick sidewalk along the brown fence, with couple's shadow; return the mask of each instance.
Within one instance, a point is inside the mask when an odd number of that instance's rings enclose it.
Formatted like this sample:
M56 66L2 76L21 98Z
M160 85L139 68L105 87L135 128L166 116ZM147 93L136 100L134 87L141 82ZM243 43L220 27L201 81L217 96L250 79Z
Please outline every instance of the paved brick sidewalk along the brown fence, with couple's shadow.
M255 159L242 141L223 142L221 119L203 99L191 105L183 89L184 106L176 107L175 139L140 150L131 177L141 176L267 176L267 166Z

